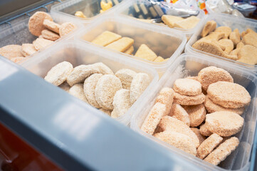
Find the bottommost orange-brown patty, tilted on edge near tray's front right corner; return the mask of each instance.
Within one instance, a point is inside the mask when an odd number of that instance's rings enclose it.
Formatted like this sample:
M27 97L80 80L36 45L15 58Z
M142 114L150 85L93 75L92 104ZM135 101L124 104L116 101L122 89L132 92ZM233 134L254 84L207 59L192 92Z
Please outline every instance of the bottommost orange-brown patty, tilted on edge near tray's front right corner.
M209 154L204 161L211 163L212 165L219 165L220 162L226 159L231 152L236 150L239 145L239 140L236 137L230 138L217 147L211 154Z

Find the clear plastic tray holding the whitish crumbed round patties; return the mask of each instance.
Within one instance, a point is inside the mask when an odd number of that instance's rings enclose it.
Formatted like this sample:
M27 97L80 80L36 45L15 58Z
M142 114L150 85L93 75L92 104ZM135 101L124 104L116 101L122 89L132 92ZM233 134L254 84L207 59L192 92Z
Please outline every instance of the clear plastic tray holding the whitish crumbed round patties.
M110 67L114 73L122 68L129 68L136 72L147 73L150 76L152 80L150 86L148 86L125 115L117 118L118 121L125 125L130 123L131 115L135 113L135 109L145 99L145 96L150 93L150 90L157 85L159 79L154 68L150 68L142 62L134 61L126 56L121 56L120 54L106 51L81 41L63 41L57 43L56 46L52 46L46 51L38 53L31 60L23 62L21 66L35 73L37 76L44 78L53 66L63 61L72 63L73 67L81 64L87 65L102 62Z

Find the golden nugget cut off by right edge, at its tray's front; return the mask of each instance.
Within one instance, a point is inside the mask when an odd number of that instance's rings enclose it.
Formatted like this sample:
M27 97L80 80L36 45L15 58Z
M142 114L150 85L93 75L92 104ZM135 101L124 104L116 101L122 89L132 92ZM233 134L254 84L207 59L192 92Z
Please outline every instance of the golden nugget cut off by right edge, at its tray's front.
M251 45L243 46L243 48L240 48L238 51L238 60L242 63L247 63L250 65L256 65L257 64L257 48Z

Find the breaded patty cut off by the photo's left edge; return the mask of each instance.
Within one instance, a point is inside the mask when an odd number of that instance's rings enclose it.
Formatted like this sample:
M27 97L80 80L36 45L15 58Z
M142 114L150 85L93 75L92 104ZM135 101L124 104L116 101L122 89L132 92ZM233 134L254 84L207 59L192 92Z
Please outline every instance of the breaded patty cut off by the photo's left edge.
M7 45L0 48L0 55L6 58L22 57L20 45Z

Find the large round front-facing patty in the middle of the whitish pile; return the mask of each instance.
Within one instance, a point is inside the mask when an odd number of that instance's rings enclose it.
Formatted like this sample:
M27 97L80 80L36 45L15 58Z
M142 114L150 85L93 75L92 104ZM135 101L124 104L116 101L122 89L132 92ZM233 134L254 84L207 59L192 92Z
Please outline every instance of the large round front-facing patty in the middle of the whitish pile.
M113 98L115 93L122 89L122 83L116 76L106 74L102 76L95 86L95 100L101 108L113 110Z

